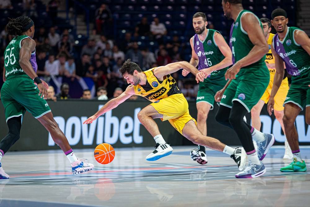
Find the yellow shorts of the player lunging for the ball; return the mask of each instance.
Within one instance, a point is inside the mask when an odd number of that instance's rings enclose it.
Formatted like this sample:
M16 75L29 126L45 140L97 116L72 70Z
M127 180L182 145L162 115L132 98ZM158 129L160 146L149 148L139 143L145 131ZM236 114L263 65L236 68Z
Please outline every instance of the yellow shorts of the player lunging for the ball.
M182 135L182 130L188 121L193 120L197 125L196 120L189 115L188 102L182 93L173 94L151 105L163 115L162 121L168 120Z

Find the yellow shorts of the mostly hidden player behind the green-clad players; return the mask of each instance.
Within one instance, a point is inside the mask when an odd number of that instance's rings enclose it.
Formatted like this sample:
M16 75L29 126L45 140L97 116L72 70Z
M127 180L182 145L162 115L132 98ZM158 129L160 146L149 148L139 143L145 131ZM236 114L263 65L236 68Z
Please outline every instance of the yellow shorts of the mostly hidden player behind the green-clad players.
M269 101L270 93L273 85L273 79L270 79L270 82L266 88L266 91L264 92L263 96L260 98L263 100L266 104ZM284 110L284 101L287 95L287 92L289 91L289 83L287 80L287 77L282 80L282 83L280 85L280 88L274 97L274 110L281 111Z

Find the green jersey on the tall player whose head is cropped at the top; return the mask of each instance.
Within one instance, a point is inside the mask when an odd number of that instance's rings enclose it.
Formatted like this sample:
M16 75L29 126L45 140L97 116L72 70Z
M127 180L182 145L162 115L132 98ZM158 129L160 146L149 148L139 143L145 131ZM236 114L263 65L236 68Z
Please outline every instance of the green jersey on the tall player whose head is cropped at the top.
M230 30L230 41L229 45L232 50L232 62L235 64L237 61L241 60L245 56L249 54L249 52L252 50L254 47L254 44L251 42L248 33L242 28L241 24L241 16L246 14L246 13L251 13L251 11L247 10L242 10L239 15L237 16L236 21L232 24L231 30ZM260 22L259 18L257 18L257 21L259 22L259 25L263 29L262 23ZM266 56L264 55L259 61L245 66L241 68L240 72L237 75L241 75L245 72L257 72L257 70L253 70L252 68L257 68L258 70L263 70L268 72L268 68L265 63ZM250 70L246 70L247 68L251 68ZM243 70L245 69L245 70Z

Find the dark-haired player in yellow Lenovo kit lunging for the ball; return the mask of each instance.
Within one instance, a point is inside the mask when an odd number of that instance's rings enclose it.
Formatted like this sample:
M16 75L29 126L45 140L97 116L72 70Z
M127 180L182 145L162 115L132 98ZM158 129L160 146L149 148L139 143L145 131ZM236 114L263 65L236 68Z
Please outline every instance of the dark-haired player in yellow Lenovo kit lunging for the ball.
M156 122L153 120L160 118L162 121L168 120L179 133L193 143L230 155L238 164L238 168L243 169L246 161L246 153L243 149L224 145L215 138L202 135L198 130L196 120L189 115L188 103L184 95L177 87L175 79L170 75L182 68L193 73L196 76L197 83L204 80L205 75L186 61L170 63L142 72L137 64L128 59L120 69L120 73L131 85L119 97L108 101L83 124L92 123L100 115L116 108L132 95L142 96L153 103L138 113L138 119L156 142L155 150L146 157L146 160L158 160L170 155L173 151L172 147L163 139Z

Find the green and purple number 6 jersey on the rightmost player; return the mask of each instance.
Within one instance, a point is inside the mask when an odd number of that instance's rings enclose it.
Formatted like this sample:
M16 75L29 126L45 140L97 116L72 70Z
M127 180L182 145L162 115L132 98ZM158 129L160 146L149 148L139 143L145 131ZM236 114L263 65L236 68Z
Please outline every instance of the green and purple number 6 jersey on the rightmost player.
M288 27L282 41L280 41L278 34L273 37L273 48L285 62L288 74L294 76L300 75L310 68L310 56L301 45L296 43L294 38L295 30L301 29Z

